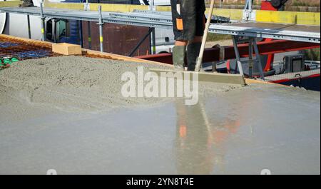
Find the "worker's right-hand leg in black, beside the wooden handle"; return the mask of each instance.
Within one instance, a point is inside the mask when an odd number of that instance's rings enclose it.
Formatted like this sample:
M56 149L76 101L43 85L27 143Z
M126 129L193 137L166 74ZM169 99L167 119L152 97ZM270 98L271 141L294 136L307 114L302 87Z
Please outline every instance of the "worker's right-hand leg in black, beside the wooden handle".
M187 47L187 61L188 71L195 71L196 62L198 55L200 54L200 46L202 46L202 40L205 30L205 4L204 1L197 1L195 4L196 15L195 15L195 29L194 39L190 41Z

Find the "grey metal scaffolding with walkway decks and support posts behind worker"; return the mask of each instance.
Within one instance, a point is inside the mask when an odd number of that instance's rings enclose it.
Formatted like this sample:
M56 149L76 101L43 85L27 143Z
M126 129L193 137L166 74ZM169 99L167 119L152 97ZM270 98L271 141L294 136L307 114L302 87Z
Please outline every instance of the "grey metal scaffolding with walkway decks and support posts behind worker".
M250 1L249 1L250 2ZM248 5L250 6L250 4ZM155 41L155 28L172 29L172 17L170 12L162 12L153 10L153 6L148 10L135 10L128 13L106 12L101 11L101 6L97 11L87 10L69 10L69 9L52 9L41 7L29 7L29 8L17 8L17 7L5 7L0 8L0 12L14 13L14 14L26 14L33 16L40 16L41 18L41 34L43 34L43 40L45 40L45 27L44 19L57 18L57 19L71 19L78 21L96 21L99 25L99 36L101 43L101 51L103 51L103 24L126 24L131 26L144 26L150 28L148 34L138 43L133 49L133 52L143 43L148 36L151 38L151 52L156 53L156 41ZM29 17L28 17L29 19ZM219 16L218 16L218 19ZM29 20L28 20L29 23ZM29 24L30 29L30 24ZM90 30L90 28L88 28ZM302 26L295 24L269 24L269 23L255 23L251 21L233 22L231 24L211 24L210 33L214 34L228 34L233 36L233 44L235 47L236 58L240 58L238 55L238 41L236 36L243 36L248 38L250 46L254 47L256 56L260 56L256 41L258 38L269 39L282 39L289 41L301 41L320 44L320 26ZM88 43L91 46L91 32L88 32ZM30 35L29 35L30 37ZM256 48L255 48L256 47ZM252 50L252 48L251 48ZM250 57L251 58L251 57ZM260 58L259 58L260 59ZM238 60L238 64L240 61ZM260 64L258 62L258 64ZM242 74L242 66L238 65L240 73ZM262 67L262 66L261 66ZM261 78L264 78L263 70L260 68Z

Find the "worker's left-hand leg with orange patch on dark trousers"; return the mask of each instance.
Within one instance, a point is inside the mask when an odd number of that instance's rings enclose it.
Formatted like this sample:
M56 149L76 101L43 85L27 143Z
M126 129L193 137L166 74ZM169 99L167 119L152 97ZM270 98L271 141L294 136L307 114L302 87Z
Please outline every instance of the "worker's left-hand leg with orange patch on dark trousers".
M180 15L181 0L170 0L173 16L173 31L175 35L175 46L173 47L173 64L175 68L184 69L186 46L188 40L183 36L183 19Z

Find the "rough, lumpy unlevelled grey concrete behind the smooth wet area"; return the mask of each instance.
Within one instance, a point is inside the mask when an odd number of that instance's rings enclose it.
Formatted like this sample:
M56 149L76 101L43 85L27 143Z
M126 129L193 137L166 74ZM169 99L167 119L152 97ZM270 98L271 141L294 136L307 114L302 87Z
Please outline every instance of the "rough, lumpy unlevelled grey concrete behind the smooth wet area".
M124 98L123 73L137 75L137 67L170 69L152 63L113 61L102 58L61 56L13 63L0 72L0 103L9 103L7 111L34 106L49 106L63 111L103 111L106 108L151 106L171 101L168 98ZM146 73L144 71L144 73ZM170 69L171 71L171 69ZM241 86L211 84L199 86L200 93L242 90ZM14 104L28 102L23 108ZM47 108L45 108L47 109ZM28 111L28 113L31 111ZM20 113L18 113L18 116ZM23 113L24 115L24 113Z

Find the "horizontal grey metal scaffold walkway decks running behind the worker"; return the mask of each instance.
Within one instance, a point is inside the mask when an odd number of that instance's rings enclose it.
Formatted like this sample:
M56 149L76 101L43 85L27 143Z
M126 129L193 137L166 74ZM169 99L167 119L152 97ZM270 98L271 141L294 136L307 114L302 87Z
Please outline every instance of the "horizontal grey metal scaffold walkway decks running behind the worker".
M34 16L41 15L41 9L39 7L5 7L0 8L0 12ZM44 17L57 19L99 22L99 15L100 14L97 11L76 11L68 9L44 8ZM173 27L170 12L136 10L129 13L116 13L102 11L101 16L103 23L127 24L132 26L145 26L149 28L161 29L172 29ZM320 44L320 26L254 22L211 24L210 33L284 39L289 41L302 41Z

